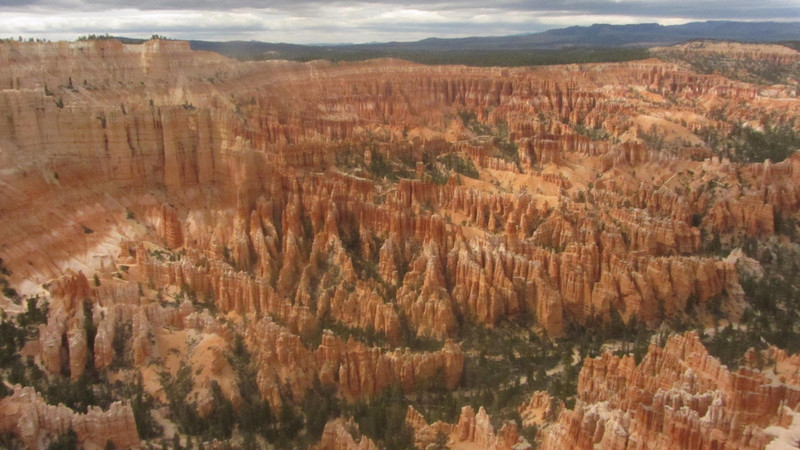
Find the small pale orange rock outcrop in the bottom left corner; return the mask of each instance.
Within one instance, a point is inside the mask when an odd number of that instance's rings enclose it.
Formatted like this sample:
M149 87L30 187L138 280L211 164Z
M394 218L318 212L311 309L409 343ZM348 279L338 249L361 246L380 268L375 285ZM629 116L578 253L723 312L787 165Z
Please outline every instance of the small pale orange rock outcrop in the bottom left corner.
M0 430L18 437L28 448L42 448L69 429L75 431L82 448L135 448L139 434L130 405L112 403L107 411L92 407L79 414L64 405L48 405L32 389L14 387L0 399Z

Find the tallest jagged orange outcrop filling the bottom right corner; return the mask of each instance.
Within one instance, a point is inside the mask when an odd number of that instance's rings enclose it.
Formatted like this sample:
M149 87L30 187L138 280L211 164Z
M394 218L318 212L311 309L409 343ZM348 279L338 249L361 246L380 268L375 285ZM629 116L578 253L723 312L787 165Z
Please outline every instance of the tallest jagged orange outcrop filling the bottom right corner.
M764 448L800 387L751 369L730 372L695 333L632 356L587 358L578 403L540 432L543 448Z

